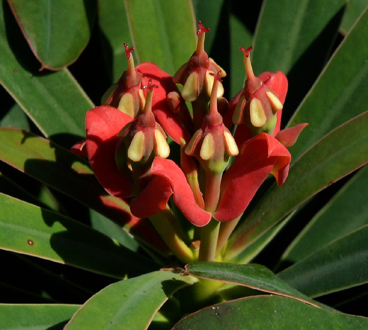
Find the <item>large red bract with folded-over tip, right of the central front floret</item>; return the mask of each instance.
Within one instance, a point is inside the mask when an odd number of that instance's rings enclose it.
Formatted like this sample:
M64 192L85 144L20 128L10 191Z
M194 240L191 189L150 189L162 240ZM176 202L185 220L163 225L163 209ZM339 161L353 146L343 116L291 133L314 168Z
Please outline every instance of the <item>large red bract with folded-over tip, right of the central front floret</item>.
M233 220L241 215L269 173L280 185L289 172L289 151L269 134L260 133L248 140L241 151L222 177L222 194L214 214L219 221Z

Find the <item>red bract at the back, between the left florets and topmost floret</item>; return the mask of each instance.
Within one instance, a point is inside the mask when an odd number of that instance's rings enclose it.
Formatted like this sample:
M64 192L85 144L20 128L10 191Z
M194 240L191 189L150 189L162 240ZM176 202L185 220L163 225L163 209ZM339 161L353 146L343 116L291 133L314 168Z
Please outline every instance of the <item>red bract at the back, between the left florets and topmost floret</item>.
M152 112L156 121L176 143L180 144L180 137L185 141L190 141L191 135L188 130L167 105L167 94L173 91L178 92L176 85L173 83L173 77L151 62L139 64L136 70L144 75L142 79L143 85L148 85L148 80L152 79L152 85L159 86L153 92L152 99ZM188 109L185 109L185 111L188 111Z

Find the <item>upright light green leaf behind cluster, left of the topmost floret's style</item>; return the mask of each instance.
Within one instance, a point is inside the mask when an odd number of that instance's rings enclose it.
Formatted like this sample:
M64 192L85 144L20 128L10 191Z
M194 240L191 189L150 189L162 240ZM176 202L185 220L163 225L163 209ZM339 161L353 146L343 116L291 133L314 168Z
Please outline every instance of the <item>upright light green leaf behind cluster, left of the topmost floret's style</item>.
M127 0L125 13L116 15L128 17L138 62L155 62L173 75L197 47L190 0Z

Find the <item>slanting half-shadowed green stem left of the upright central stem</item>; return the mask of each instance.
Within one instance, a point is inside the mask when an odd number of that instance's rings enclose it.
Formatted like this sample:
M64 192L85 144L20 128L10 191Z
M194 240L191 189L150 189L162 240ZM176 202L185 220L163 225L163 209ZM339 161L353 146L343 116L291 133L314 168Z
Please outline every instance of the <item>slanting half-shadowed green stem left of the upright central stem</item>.
M182 262L189 263L194 261L193 252L187 244L180 238L180 235L174 230L170 220L164 212L150 216L152 225L163 238L173 254Z

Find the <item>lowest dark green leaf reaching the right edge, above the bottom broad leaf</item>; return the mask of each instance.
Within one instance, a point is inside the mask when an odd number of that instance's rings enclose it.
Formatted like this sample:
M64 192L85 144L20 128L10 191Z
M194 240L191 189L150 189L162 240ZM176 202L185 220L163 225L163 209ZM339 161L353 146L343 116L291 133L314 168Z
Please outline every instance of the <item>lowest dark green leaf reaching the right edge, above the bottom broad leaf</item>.
M336 240L279 273L310 297L368 283L368 225Z

